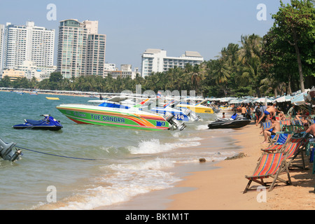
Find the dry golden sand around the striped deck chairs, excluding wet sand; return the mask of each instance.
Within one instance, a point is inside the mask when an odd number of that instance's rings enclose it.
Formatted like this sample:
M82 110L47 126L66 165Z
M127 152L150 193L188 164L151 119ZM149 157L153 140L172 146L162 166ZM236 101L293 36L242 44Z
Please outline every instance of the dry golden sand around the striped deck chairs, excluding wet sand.
M236 130L233 138L237 139L237 145L242 147L241 152L246 156L219 162L216 165L219 169L193 172L193 175L186 176L176 188L192 188L195 190L169 197L172 202L169 202L167 209L315 209L315 174L312 174L313 164L309 163L309 156L305 157L308 170L290 172L291 186L282 185L275 187L270 192L267 190L265 200L258 197L259 192L256 190L243 194L248 183L244 176L253 174L261 155L260 149L267 146L267 144L260 144L263 141L262 135L259 134L260 130L260 127L256 127L253 123ZM295 162L301 162L300 156L295 159ZM283 179L286 179L286 174ZM251 186L258 186L258 183L252 183Z

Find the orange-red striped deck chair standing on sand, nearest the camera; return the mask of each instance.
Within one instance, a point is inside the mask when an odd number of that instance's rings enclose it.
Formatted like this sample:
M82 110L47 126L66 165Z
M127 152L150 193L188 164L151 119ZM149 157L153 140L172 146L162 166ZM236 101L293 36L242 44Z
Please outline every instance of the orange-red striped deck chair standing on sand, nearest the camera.
M249 189L253 181L262 186L269 187L269 191L274 188L276 181L290 185L290 174L288 172L288 167L286 167L284 163L285 160L286 153L264 153L258 161L258 165L256 166L253 175L245 176L245 178L248 179L248 183L243 193L246 193L248 190L256 189ZM283 167L288 174L288 181L279 178L279 174L283 171ZM269 177L272 177L274 180L272 182L265 182L264 179Z

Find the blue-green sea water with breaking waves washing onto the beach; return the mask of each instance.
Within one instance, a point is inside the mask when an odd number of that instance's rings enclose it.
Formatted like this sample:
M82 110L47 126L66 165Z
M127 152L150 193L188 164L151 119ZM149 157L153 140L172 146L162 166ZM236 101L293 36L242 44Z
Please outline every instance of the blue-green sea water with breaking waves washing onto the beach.
M89 104L89 97L0 92L0 137L22 149L22 159L0 160L0 209L115 209L139 195L173 188L176 167L207 160L207 169L235 155L232 130L208 130L216 114L202 114L183 131L144 131L79 125L59 104ZM15 130L41 114L60 121L59 131ZM202 142L207 142L204 146ZM203 168L204 169L204 168ZM196 171L189 170L188 172Z

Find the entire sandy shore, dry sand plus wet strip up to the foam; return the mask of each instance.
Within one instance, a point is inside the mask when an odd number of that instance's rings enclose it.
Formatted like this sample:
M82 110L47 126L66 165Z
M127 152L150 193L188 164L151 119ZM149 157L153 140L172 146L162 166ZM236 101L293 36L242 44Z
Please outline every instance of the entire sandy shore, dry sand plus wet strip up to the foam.
M244 157L218 162L197 162L174 167L181 181L174 187L137 195L128 202L94 210L314 210L315 180L312 163L304 156L307 171L290 172L291 186L276 186L266 191L266 202L258 202L256 190L243 191L248 183L245 175L253 174L267 144L259 134L261 128L251 124L229 135ZM203 132L203 134L207 132ZM207 139L202 143L207 146ZM238 153L237 153L238 154ZM300 162L300 157L297 157ZM283 179L286 174L283 174ZM251 186L258 186L252 183ZM148 203L149 202L149 203Z

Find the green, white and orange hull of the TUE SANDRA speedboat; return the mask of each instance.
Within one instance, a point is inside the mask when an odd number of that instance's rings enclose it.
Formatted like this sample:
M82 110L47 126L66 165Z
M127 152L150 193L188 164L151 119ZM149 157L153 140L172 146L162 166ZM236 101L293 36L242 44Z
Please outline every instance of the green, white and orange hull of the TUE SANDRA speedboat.
M67 118L78 124L130 127L140 130L168 130L169 123L159 115L137 113L124 109L111 109L102 106L62 104L56 107Z

